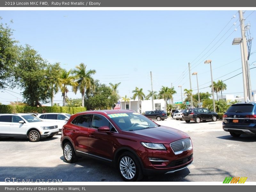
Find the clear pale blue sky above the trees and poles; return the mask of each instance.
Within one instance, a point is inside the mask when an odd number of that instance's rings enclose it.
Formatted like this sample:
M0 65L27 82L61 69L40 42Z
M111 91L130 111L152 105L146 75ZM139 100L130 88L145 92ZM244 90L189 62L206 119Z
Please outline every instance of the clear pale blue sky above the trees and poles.
M147 95L152 71L153 89L159 91L162 85L170 87L172 83L177 91L174 102L181 101L178 85L182 85L182 90L189 89L188 62L191 73L198 72L199 88L211 84L210 65L204 64L206 59L212 60L215 81L242 72L240 46L232 45L235 37L241 37L239 15L234 10L1 11L0 16L3 23L13 20L10 27L20 44L31 45L50 63L60 62L62 68L73 69L83 62L88 69L97 71L93 77L101 83L121 82L121 97L132 97L136 86ZM255 38L256 12L248 10L244 18L245 24L251 24L251 37ZM250 63L256 61L255 41L252 41L253 52ZM252 90L256 89L255 72L256 68L251 69ZM196 76L191 76L191 81L195 94ZM223 94L243 96L242 74L225 83L227 90ZM211 89L200 90L207 91ZM22 95L13 92L1 92L0 102L8 104L17 97L22 99ZM80 98L81 94L69 92L68 97ZM54 100L62 105L60 93Z

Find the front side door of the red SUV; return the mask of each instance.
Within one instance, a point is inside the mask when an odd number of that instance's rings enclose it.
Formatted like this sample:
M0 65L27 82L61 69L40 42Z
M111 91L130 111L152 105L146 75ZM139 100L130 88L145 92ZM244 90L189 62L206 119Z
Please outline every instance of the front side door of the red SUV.
M108 126L113 130L113 125L102 115L94 114L92 125L88 133L89 154L99 158L111 160L114 151L115 132L99 132L98 128Z

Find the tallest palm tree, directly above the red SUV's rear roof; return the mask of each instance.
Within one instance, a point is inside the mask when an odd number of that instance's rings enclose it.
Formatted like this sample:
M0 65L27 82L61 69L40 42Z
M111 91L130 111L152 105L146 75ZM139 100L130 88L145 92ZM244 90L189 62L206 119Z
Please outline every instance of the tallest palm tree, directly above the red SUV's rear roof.
M90 69L86 71L86 65L84 63L80 63L79 66L72 71L74 74L77 85L73 87L73 91L77 92L79 89L80 93L82 94L82 107L84 107L84 93L86 90L93 89L94 87L94 80L92 75L96 73L96 70Z

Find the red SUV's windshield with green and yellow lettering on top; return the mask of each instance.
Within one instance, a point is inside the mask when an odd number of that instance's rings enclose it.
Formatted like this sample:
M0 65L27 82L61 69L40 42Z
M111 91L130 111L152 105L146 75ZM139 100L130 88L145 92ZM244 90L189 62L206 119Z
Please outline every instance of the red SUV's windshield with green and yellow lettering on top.
M116 113L108 115L123 131L136 131L158 127L156 123L149 120L146 116L136 112Z

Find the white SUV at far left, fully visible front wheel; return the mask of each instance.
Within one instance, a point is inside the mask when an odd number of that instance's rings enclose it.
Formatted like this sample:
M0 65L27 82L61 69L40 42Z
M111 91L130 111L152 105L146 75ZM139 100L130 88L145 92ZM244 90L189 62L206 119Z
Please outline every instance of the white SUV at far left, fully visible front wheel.
M44 122L26 113L0 114L0 137L28 138L32 142L52 138L59 133L58 125Z

